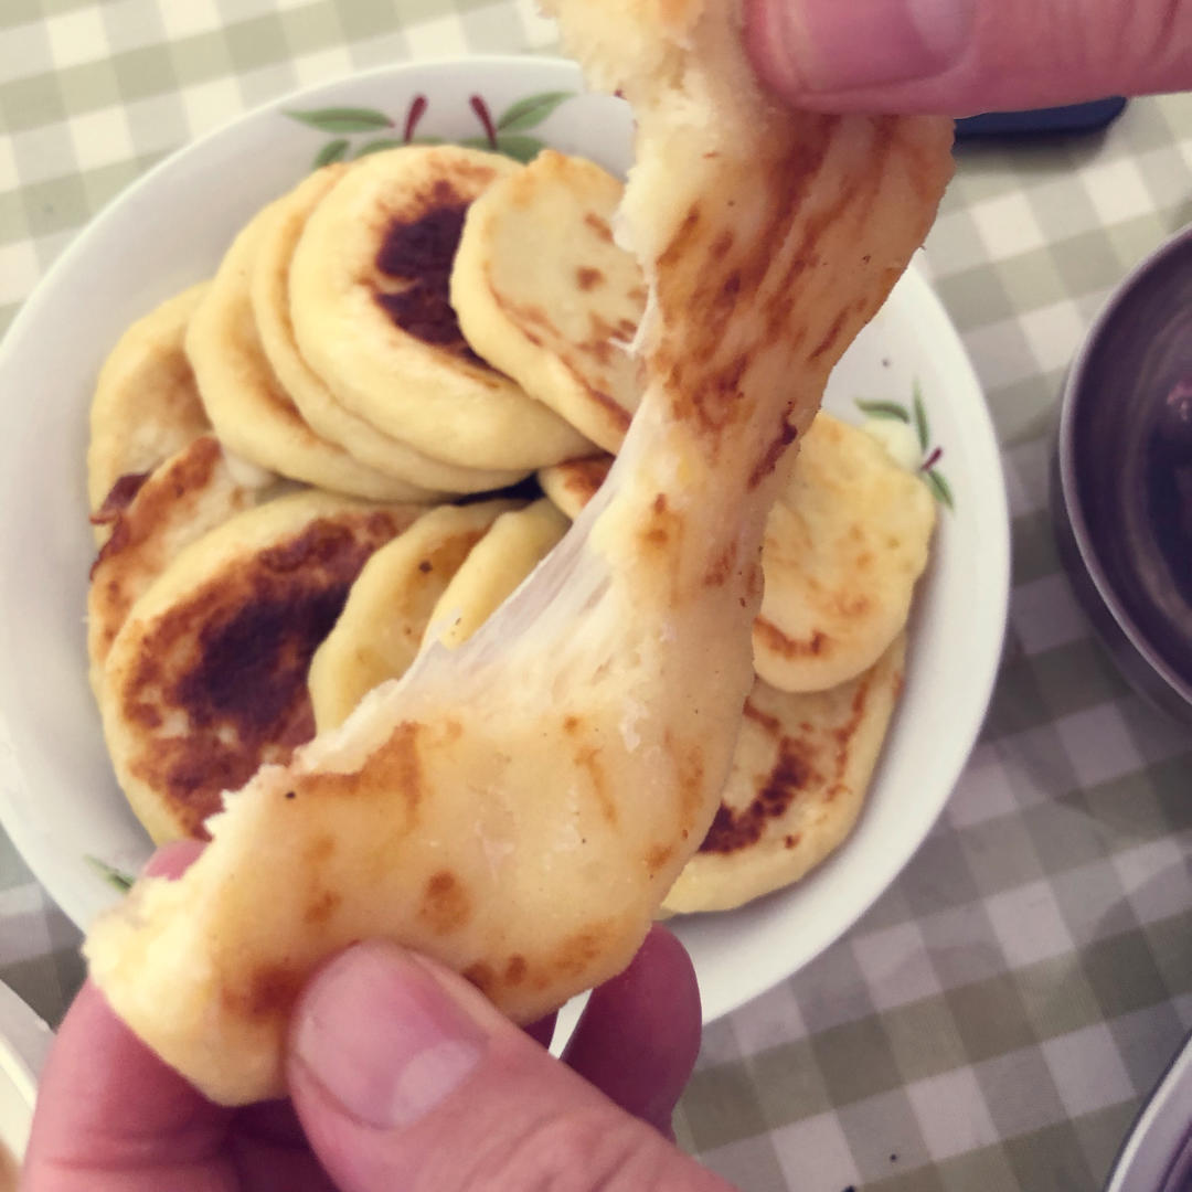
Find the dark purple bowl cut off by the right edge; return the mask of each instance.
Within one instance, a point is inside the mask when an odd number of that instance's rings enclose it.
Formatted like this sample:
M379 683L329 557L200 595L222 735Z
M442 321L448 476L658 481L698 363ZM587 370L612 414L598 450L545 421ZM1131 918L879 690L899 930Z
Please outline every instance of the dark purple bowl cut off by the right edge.
M1073 362L1053 515L1123 673L1192 724L1192 228L1118 287Z

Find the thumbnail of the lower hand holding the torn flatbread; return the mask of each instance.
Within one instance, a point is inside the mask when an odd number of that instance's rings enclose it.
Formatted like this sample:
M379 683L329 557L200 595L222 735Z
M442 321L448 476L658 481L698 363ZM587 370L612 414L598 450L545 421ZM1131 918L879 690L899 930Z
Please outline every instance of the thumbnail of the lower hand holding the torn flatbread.
M411 1125L480 1063L485 1033L416 961L386 944L349 949L299 1007L299 1062L344 1112L381 1130Z

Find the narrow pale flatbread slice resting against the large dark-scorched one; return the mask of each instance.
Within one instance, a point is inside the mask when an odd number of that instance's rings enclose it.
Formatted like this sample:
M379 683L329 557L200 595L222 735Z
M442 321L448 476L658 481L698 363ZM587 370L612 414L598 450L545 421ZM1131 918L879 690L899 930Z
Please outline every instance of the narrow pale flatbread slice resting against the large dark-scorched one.
M433 509L365 564L311 659L319 732L342 725L374 687L409 670L452 578L493 521L516 508L513 501L484 501Z

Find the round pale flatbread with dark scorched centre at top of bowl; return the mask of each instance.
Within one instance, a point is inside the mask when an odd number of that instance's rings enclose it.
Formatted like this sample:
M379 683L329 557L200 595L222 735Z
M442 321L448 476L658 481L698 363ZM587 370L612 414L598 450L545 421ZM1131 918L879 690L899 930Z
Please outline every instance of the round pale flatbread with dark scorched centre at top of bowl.
M313 210L290 265L294 339L336 401L462 467L528 471L591 451L471 349L449 300L468 204L521 168L453 145L373 154Z

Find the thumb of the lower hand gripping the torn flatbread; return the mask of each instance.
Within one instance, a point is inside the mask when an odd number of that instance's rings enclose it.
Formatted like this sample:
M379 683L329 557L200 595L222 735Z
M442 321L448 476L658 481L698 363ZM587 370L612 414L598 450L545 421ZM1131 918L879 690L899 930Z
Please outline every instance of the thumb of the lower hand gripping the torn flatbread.
M731 1192L467 982L391 944L316 976L288 1081L343 1192Z

